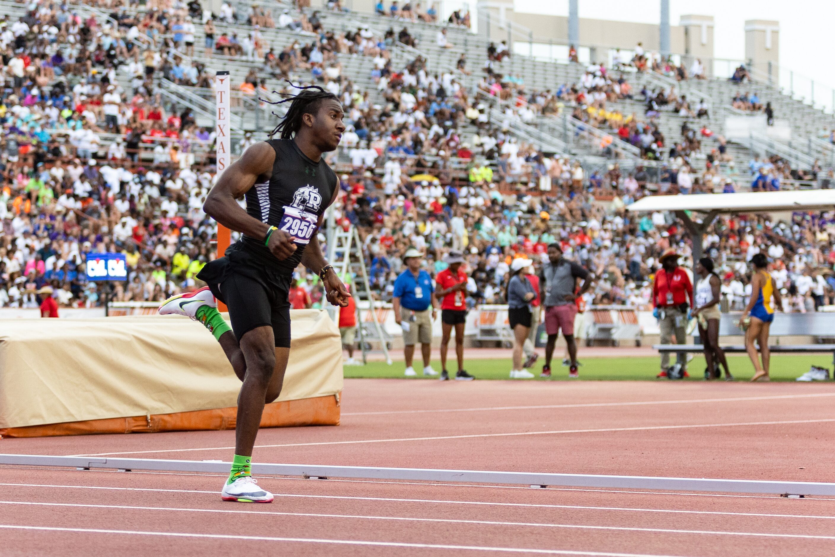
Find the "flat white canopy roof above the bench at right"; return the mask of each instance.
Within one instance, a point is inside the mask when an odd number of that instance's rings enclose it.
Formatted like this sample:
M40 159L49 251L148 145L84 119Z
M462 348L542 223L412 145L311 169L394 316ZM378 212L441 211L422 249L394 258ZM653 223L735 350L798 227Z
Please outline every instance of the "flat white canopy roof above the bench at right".
M835 209L835 190L751 191L737 194L650 195L626 207L639 213L697 210L758 213L775 210Z

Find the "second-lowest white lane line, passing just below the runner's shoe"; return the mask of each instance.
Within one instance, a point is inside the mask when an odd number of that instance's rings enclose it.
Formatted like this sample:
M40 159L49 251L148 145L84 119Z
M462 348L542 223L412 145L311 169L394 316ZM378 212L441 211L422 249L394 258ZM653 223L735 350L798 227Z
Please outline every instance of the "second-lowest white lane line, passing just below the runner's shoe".
M405 516L376 516L367 514L320 514L320 513L282 513L280 511L235 510L235 509L183 509L177 507L138 507L131 505L110 504L80 504L80 503L32 503L23 501L0 501L0 504L19 504L47 507L72 507L85 509L124 509L124 510L163 510L180 511L186 513L215 513L215 514L268 514L270 516L303 516L316 519L359 519L359 520L393 520L398 522L433 522L444 524L483 524L487 526L525 526L536 528L561 528L581 530L612 530L617 532L652 532L655 534L708 534L728 536L749 536L762 538L792 538L792 539L835 539L835 536L813 534L775 534L771 532L729 532L725 530L679 530L670 528L637 528L634 526L600 526L593 524L549 524L541 522L503 522L498 520L464 520L464 519L417 519Z

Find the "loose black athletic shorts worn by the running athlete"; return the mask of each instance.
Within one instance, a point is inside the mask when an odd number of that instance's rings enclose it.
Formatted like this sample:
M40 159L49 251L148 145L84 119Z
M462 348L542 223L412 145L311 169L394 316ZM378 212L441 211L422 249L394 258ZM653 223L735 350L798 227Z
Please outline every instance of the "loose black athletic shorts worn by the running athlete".
M276 347L290 347L291 276L265 269L235 246L206 263L197 278L229 308L232 332L240 339L256 327L272 327Z

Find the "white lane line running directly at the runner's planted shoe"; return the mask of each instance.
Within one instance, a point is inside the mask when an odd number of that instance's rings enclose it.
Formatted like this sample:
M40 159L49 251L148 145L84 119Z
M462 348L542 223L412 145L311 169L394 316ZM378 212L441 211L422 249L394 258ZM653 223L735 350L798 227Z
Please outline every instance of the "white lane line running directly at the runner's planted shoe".
M49 485L49 484L0 484L18 487L37 487L37 488L76 488L76 489L114 489L118 491L161 491L161 492L175 492L185 494L217 494L216 491L196 491L192 489L154 489L154 488L110 488L101 487L97 485ZM635 493L635 492L627 492ZM768 517L776 519L835 519L835 516L823 514L769 514L769 513L732 513L725 511L707 511L707 510L676 510L676 509L645 509L640 507L596 507L586 505L570 505L570 504L544 504L544 503L506 503L506 502L491 502L491 501L460 501L455 499L400 499L392 497L358 497L350 495L310 495L310 494L273 494L275 497L283 497L286 499L347 499L353 501L387 501L393 503L428 503L428 504L462 504L462 505L482 505L488 507L522 507L535 509L572 509L572 510L610 510L610 511L625 511L638 513L668 513L668 514L717 514L725 516L755 516ZM0 501L0 504L44 504L50 505L53 503L30 503L18 501ZM61 506L63 504L54 503L53 505ZM73 504L67 504L73 506ZM89 507L99 505L78 504L75 506ZM111 506L111 505L105 505ZM113 505L114 508L122 508ZM124 507L125 509L134 507ZM135 507L141 509L142 507ZM202 509L179 509L179 510L202 510ZM232 511L217 511L217 512L232 512ZM234 512L261 512L261 511L234 511ZM286 513L294 514L294 513ZM314 515L311 515L314 516ZM315 516L320 516L316 514ZM326 516L326 515L321 515ZM327 515L330 516L330 515ZM342 515L336 515L342 516ZM372 518L372 517L354 517L354 518ZM469 521L465 521L469 522ZM505 524L505 523L502 523ZM512 524L512 523L506 523ZM515 524L515 523L513 523Z

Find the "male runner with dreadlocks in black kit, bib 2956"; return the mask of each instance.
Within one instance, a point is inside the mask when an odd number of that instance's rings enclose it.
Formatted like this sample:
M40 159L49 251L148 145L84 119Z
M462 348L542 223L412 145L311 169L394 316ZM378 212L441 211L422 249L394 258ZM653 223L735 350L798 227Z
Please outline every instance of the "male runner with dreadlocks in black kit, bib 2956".
M206 286L174 296L159 313L190 316L220 342L243 386L238 396L235 457L220 496L225 501L270 503L272 494L251 478L264 404L276 400L290 355L293 270L301 263L319 274L327 300L347 306L348 293L322 256L316 230L339 193L337 175L322 153L337 149L345 124L342 104L319 87L290 99L290 109L273 130L281 139L253 144L220 175L203 209L221 225L242 233L224 257L198 274ZM236 199L246 197L246 210ZM215 299L229 307L230 328Z

